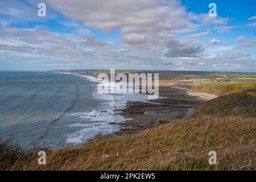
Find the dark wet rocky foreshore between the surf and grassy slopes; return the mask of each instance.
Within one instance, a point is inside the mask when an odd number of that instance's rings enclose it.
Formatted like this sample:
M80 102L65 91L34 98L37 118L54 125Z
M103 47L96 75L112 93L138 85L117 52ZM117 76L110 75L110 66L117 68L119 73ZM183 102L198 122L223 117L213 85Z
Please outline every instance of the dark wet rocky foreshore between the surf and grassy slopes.
M144 129L150 129L162 123L174 122L175 119L191 117L195 107L205 99L191 96L187 90L170 86L159 87L158 100L148 102L127 102L122 113L131 121L119 123L121 130L115 135L132 134Z

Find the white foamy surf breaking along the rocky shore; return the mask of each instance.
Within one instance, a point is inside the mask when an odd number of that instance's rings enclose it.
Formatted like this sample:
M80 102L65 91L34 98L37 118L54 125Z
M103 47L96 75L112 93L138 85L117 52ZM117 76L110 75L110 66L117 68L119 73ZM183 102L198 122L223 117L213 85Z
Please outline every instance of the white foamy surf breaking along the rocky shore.
M73 73L68 73L77 75ZM73 129L77 128L75 133L67 134L65 140L68 144L80 144L86 139L92 138L97 134L109 134L119 130L118 125L110 125L110 122L125 122L131 120L131 118L125 118L121 115L121 109L126 107L127 101L142 101L148 102L147 94L138 94L139 90L135 90L134 94L101 94L97 92L97 85L101 82L102 86L106 86L109 90L115 90L116 83L109 80L100 80L98 78L86 75L77 75L84 77L92 82L93 97L99 101L98 109L91 111L77 112L69 114L69 117L75 117L82 119L80 123L72 123L68 125Z

